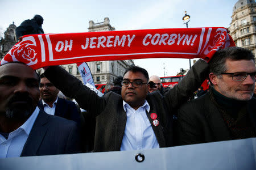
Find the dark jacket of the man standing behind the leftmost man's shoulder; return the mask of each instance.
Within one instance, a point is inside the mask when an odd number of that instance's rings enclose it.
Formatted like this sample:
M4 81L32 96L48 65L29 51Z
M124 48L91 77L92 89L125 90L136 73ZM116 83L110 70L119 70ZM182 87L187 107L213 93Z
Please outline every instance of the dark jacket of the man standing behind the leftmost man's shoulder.
M38 107L44 110L42 100L39 100ZM56 103L54 116L59 116L67 118L68 120L75 121L79 127L82 124L81 112L78 112L76 104L73 101L61 99L60 97Z

